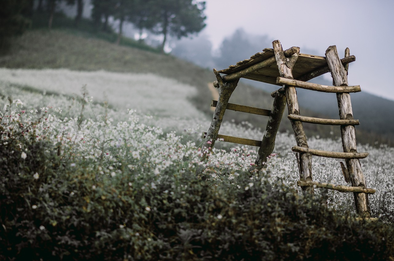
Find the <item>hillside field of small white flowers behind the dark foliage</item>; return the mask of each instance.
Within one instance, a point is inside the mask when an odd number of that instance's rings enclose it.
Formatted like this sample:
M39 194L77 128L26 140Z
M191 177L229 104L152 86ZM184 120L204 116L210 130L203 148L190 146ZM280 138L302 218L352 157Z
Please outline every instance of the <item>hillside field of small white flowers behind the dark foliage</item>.
M105 71L11 69L0 69L0 79L2 124L18 128L41 117L35 128L37 139L45 136L54 144L60 143L61 150L69 155L69 164L75 164L78 158L92 164L101 160L103 175L116 176L122 168L141 169L141 173L149 168L160 175L174 166L201 166L220 178L221 170L230 169L232 175L238 175L237 170L247 170L255 161L256 148L217 142L209 161L201 162L200 136L208 129L210 119L188 102L196 90L172 79ZM82 86L85 95L81 94ZM10 101L8 97L12 97ZM93 103L93 99L108 101L110 108ZM221 133L253 139L263 136L248 123L223 123ZM296 186L298 168L290 149L294 145L292 133L278 134L275 154L264 172L267 175L260 178L278 178L286 185ZM342 150L340 140L316 137L309 138L309 147ZM393 215L394 148L358 145L357 149L370 153L361 165L367 186L377 190L369 196L373 215ZM348 185L338 160L314 157L312 162L315 181ZM329 206L348 205L354 209L352 194L331 190L327 193Z

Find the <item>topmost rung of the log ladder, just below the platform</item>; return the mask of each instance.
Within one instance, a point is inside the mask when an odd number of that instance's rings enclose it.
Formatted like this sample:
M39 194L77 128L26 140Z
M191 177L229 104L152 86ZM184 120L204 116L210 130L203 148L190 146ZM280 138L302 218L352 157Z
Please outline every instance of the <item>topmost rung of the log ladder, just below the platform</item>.
M295 86L302 89L309 89L312 91L323 91L330 93L349 93L349 92L359 92L361 88L359 85L356 86L327 86L321 84L315 84L311 82L302 82L293 79L287 79L283 77L276 78L277 84L286 84L290 86Z

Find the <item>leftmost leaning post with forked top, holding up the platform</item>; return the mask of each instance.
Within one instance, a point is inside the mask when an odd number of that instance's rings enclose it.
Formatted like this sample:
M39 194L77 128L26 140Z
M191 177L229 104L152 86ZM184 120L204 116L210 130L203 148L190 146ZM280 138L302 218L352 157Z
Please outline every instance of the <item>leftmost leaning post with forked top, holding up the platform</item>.
M211 121L211 125L206 133L204 144L202 150L204 157L206 158L208 154L212 151L214 144L216 142L217 134L219 133L220 125L223 121L223 116L229 103L230 96L234 89L237 87L239 79L232 80L230 82L223 82L220 74L214 69L217 82L219 84L219 99L214 112L214 117Z

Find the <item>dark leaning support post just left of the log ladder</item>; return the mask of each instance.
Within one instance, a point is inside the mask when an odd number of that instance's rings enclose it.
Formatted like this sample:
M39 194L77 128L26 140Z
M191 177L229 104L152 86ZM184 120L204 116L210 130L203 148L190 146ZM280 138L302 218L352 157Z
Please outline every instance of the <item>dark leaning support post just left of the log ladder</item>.
M258 149L255 166L251 168L251 170L255 168L262 169L266 166L265 162L267 161L267 157L271 155L275 147L275 138L279 130L285 107L286 95L277 91L269 114L266 131L264 132L260 149Z

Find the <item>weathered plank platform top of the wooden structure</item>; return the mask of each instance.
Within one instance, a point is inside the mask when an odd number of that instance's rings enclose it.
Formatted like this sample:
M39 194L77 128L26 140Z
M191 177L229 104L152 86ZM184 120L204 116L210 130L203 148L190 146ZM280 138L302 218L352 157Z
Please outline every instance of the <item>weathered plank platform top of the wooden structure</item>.
M251 56L251 58L247 60L243 60L238 62L236 65L230 65L229 68L218 71L219 73L223 73L226 75L230 75L232 73L236 73L243 69L246 69L256 63L260 63L268 58L274 56L274 51L271 48L265 48L262 52L258 52ZM294 79L299 79L301 76L306 75L310 72L316 71L322 67L326 67L328 65L327 60L323 56L311 55L311 54L299 54L297 58L297 62L293 67L293 77ZM279 77L278 66L275 63L249 73L242 78L256 80L259 82L266 82L269 84L275 84L281 86L281 84L276 83L276 78Z

